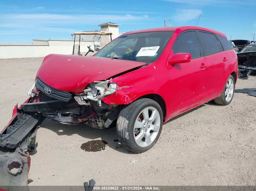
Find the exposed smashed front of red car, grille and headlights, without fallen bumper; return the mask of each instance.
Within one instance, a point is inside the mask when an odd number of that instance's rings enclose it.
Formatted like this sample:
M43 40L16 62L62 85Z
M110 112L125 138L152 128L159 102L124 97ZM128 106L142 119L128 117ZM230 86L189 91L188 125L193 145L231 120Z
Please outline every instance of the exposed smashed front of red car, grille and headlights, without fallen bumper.
M105 129L113 123L120 106L101 102L105 96L113 94L116 83L94 81L80 94L56 90L36 79L30 89L32 100L21 105L25 112L39 112L43 116L63 124L85 123L94 128Z

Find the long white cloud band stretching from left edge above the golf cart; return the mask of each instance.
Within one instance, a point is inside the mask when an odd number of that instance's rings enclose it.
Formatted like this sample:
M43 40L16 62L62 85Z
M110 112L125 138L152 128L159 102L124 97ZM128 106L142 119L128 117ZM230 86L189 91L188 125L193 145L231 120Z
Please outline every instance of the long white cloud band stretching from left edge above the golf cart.
M146 14L5 14L0 15L0 26L7 30L9 30L8 28L12 28L13 30L19 31L65 31L72 33L75 31L74 27L77 29L86 29L86 25L97 26L106 22L118 24L127 22L139 23L148 19L149 17Z

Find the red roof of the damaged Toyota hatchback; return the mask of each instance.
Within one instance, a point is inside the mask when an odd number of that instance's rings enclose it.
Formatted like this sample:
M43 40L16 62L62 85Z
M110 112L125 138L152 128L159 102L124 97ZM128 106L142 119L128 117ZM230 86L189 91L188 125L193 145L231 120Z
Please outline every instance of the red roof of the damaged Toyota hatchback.
M151 29L143 29L143 30L136 30L136 31L131 31L125 34L132 34L132 33L143 33L143 32L155 32L155 31L175 31L175 30L204 30L204 31L208 31L211 33L215 33L218 35L221 35L223 37L226 37L225 34L218 32L216 30L211 30L208 28L204 28L204 27L197 27L197 26L178 26L178 27L160 27L160 28L151 28ZM227 37L226 37L227 38Z

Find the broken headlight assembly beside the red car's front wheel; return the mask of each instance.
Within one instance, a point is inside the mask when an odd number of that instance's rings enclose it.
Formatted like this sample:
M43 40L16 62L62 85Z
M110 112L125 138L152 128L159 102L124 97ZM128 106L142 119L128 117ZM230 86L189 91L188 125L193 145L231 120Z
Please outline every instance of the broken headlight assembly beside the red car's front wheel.
M117 89L116 83L110 83L108 81L95 81L87 86L84 90L86 96L85 99L99 101L101 98L113 94Z

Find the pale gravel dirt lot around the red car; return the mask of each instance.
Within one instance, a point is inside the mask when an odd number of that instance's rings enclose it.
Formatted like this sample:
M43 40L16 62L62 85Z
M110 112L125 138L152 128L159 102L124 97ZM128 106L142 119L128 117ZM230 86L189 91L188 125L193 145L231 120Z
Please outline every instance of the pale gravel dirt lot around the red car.
M42 58L0 60L0 129L12 109L23 103ZM237 89L256 88L256 76L238 80ZM29 185L255 185L256 97L235 94L228 106L206 103L165 123L156 145L131 154L121 147L115 128L99 130L46 119L31 153ZM86 152L90 140L108 142Z

